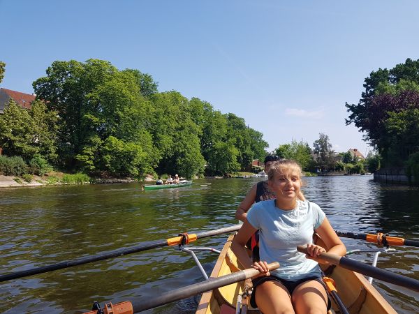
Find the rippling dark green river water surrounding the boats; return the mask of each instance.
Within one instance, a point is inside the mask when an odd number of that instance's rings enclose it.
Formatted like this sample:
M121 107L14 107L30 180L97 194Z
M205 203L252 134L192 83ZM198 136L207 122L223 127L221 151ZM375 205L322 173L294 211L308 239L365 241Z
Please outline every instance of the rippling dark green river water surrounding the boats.
M258 179L200 179L185 188L142 192L140 184L44 186L0 190L0 273L41 267L179 232L235 225L237 204ZM419 189L383 185L372 176L304 178L307 199L318 203L336 230L388 232L419 239ZM192 246L221 250L227 235ZM375 248L343 239L348 250ZM198 253L207 274L216 255ZM372 262L372 255L352 255ZM419 279L419 248L397 247L378 267ZM84 264L0 283L4 313L82 313L93 301L149 298L203 281L192 258L177 248ZM419 293L388 283L374 286L399 313L419 313ZM192 297L147 313L193 313Z

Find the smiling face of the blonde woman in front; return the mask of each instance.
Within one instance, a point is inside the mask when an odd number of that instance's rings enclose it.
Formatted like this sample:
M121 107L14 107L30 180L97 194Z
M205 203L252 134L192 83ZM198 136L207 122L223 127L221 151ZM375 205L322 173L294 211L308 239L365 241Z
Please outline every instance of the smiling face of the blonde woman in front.
M269 181L269 186L277 199L295 200L301 190L300 172L297 170L292 170L286 174L280 171L275 172L274 177Z

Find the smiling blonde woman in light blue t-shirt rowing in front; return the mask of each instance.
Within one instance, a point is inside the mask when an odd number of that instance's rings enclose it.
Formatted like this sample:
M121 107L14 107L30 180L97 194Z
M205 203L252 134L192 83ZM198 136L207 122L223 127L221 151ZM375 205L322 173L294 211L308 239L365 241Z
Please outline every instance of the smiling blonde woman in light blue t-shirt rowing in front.
M251 305L264 314L327 313L330 303L316 258L325 249L313 244L313 233L320 235L330 253L343 256L346 248L320 207L301 200L301 167L295 161L274 162L268 184L276 199L253 205L232 244L242 265L261 273L253 280ZM252 263L245 244L256 230L260 262ZM297 252L301 244L307 244L308 255ZM279 262L279 269L267 271L270 262Z

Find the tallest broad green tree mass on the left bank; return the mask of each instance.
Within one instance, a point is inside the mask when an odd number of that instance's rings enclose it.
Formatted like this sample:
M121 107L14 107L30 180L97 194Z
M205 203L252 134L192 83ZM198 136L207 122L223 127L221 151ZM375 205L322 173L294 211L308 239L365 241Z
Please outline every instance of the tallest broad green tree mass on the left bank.
M59 116L59 161L68 170L135 174L132 163L144 170L159 160L148 131L152 105L145 95L156 91L149 75L119 71L103 60L54 61L47 76L34 82L34 90ZM126 149L132 163L114 167L109 143ZM144 164L138 165L138 160Z

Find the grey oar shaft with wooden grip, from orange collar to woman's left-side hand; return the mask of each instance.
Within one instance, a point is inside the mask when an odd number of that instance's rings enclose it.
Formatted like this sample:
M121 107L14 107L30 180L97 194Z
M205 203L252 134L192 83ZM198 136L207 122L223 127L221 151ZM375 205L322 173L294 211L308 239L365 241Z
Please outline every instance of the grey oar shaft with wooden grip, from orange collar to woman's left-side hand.
M267 267L270 271L277 269L279 267L279 262L270 263L267 265ZM226 276L217 278L210 278L207 281L181 287L177 290L172 290L170 292L160 294L159 296L152 299L139 299L137 301L132 301L131 303L133 304L133 311L134 313L137 313L148 310L150 308L156 308L157 306L162 306L163 304L186 299L196 294L214 290L225 285L231 285L232 283L237 283L239 281L244 281L254 276L258 276L258 274L260 274L260 272L257 269L244 269L233 274L228 274Z

